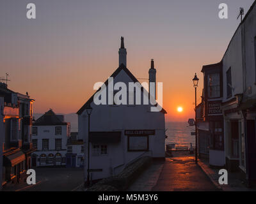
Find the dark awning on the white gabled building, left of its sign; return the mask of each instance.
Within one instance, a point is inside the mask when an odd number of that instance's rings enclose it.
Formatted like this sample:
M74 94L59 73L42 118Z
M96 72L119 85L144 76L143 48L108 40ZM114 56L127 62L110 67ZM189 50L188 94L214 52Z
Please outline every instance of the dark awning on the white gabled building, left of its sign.
M92 143L120 142L122 132L90 132L89 140Z

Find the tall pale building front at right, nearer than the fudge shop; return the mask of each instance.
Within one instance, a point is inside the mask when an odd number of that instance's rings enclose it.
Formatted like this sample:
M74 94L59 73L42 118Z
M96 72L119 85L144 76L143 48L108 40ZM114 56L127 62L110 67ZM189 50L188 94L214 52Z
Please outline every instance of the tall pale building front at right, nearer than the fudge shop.
M232 96L227 96L227 71L231 70ZM255 120L249 111L256 101L256 6L253 3L237 28L223 57L223 116L226 163L235 163L246 173L246 120ZM233 100L232 100L233 99ZM246 109L248 111L246 111ZM229 110L236 110L228 112ZM228 113L227 113L228 112ZM238 127L238 138L232 129ZM256 147L255 147L256 148Z

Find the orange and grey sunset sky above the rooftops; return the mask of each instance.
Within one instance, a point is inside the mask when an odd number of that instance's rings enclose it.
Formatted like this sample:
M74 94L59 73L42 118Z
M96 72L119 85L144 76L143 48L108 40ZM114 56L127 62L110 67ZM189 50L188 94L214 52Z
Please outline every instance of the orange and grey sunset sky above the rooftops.
M0 3L0 76L8 72L9 89L29 92L35 113L77 112L93 94L93 84L118 67L124 36L127 68L147 78L153 58L166 120L187 121L195 113L195 72L200 102L202 66L221 61L239 25L239 7L248 11L253 0L225 1L228 19L218 17L221 1L35 0L34 20L26 18L28 3Z

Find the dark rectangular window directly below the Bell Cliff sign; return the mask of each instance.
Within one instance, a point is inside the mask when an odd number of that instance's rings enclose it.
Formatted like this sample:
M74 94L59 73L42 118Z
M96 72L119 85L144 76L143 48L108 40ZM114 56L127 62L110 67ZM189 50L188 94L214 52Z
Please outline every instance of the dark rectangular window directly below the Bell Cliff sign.
M128 136L128 151L147 151L148 136Z

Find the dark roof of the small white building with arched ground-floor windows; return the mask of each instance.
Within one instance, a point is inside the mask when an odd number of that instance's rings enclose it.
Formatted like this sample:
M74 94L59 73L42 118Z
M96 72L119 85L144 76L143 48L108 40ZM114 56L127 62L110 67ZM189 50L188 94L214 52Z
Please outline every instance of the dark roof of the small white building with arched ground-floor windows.
M56 115L51 109L45 112L39 119L37 119L33 126L51 126L51 125L66 125L67 122L62 122L58 115Z

